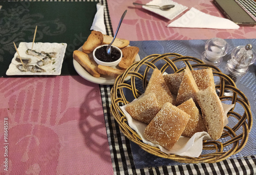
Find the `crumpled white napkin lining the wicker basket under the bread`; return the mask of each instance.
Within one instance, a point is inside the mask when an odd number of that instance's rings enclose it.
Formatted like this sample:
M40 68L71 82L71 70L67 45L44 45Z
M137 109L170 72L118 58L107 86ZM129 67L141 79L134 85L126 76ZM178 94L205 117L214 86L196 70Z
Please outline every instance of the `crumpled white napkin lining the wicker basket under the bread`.
M135 99L135 100L137 100L137 99ZM234 104L222 103L222 105L223 105L225 116L227 116L228 111L231 110L231 108L234 106ZM203 150L203 140L212 140L211 137L206 132L196 133L191 138L181 136L179 138L178 142L176 142L175 145L170 150L167 150L158 144L153 144L152 142L148 141L144 137L143 133L144 133L144 130L147 125L145 123L142 123L138 120L133 119L130 116L130 114L125 111L125 107L126 107L126 105L120 106L122 112L126 116L129 126L136 131L136 133L141 137L142 141L146 144L150 144L152 146L159 147L159 149L166 154L175 154L175 155L189 156L189 157L199 157ZM226 117L225 125L227 123L228 123L228 120Z

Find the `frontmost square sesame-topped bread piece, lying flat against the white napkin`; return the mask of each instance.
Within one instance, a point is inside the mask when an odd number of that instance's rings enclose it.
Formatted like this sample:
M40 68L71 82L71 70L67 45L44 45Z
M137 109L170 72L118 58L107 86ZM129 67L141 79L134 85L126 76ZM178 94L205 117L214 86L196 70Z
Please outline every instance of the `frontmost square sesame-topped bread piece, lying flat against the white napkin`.
M190 116L167 102L144 130L144 136L154 144L170 149L179 140Z

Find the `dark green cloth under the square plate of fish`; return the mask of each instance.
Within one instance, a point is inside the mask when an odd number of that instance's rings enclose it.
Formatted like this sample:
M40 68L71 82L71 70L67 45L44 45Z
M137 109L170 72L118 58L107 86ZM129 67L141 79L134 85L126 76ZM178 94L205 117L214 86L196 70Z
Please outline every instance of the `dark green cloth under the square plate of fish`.
M97 2L0 2L0 77L6 76L19 42L68 44L61 75L77 75L73 51L91 33Z

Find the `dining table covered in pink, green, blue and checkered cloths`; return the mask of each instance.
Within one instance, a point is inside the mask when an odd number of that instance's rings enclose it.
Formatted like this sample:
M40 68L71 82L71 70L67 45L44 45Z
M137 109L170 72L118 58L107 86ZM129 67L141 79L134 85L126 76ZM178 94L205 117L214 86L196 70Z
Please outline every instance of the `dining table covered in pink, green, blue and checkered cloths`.
M237 154L216 163L180 163L145 151L125 137L111 112L113 84L97 83L77 72L73 52L90 35L98 3L104 7L104 27L110 36L127 10L117 37L138 47L140 59L164 53L200 59L206 41L218 37L229 47L219 66L224 71L234 48L247 44L256 48L256 26L167 27L191 8L225 18L210 0L173 0L187 7L174 19L133 2L150 0L0 2L0 174L256 174L256 63L236 83L251 106L253 123L247 143ZM245 5L250 2L255 8L254 1L237 2L256 19ZM7 75L16 53L13 43L18 48L33 39L66 46L61 73Z

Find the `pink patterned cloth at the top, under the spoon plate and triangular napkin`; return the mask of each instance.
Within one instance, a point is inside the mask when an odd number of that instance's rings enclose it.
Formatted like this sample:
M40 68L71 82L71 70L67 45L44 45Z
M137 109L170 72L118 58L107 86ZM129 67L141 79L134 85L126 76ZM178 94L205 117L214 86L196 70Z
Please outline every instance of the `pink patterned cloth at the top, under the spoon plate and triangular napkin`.
M134 1L146 4L150 0ZM189 10L194 7L204 13L223 17L220 11L209 0L187 1L174 0L181 5L187 6ZM125 9L128 10L123 19L117 37L132 41L140 40L190 40L190 39L210 39L219 37L223 39L256 38L256 26L240 27L238 30L226 29L192 29L192 28L168 28L172 21L180 17L187 10L173 20L168 20L153 12L147 11L141 6L134 6L133 1L110 0L108 1L111 23L115 32L120 16Z

